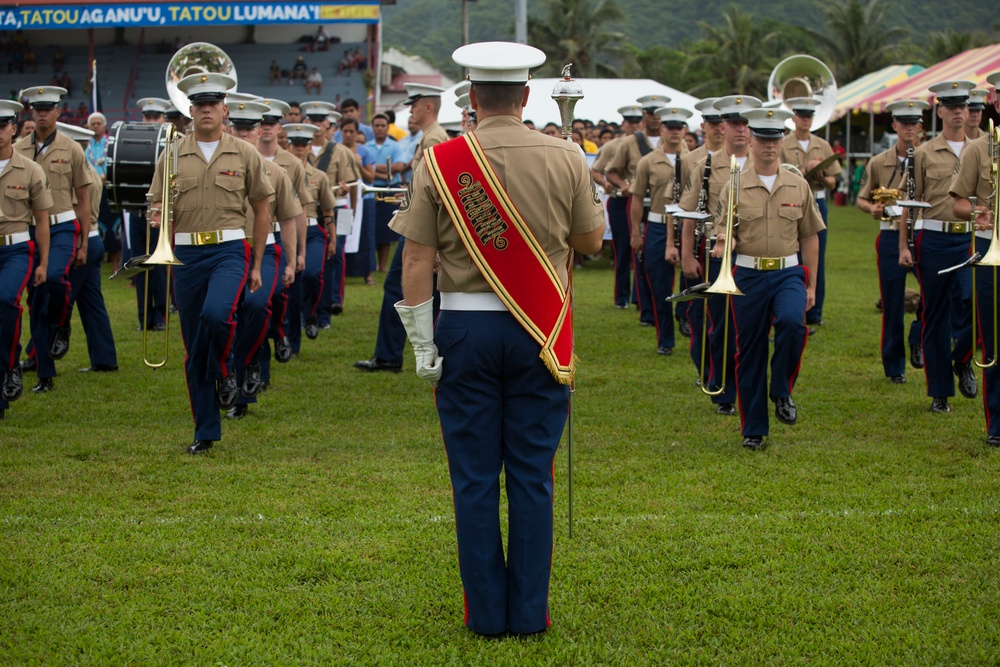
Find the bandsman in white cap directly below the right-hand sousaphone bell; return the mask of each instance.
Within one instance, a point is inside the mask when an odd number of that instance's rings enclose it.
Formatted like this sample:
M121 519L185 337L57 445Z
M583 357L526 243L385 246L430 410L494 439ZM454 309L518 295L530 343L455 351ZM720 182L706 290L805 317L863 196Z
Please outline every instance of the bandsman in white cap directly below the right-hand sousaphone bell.
M820 162L833 156L833 149L830 143L812 133L813 116L821 102L811 97L793 97L785 102L792 110L794 116L792 122L795 123L795 131L784 139L781 147L781 161L794 164L799 171L805 174L813 169ZM843 171L840 162L834 160L829 167L810 181L809 185L813 189L813 198L819 206L819 212L823 214L823 224L827 224L829 212L826 203L826 191L837 187L837 174ZM826 300L826 229L820 230L817 235L819 240L819 264L816 268L816 303L806 312L806 324L823 324L823 302Z

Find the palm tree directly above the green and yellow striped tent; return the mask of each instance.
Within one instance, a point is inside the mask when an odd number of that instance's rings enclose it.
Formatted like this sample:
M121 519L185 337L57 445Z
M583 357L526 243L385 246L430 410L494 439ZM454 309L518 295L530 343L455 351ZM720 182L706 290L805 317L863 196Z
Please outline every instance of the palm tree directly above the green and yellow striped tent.
M889 0L842 0L824 6L826 31L806 28L826 52L837 81L849 83L891 64L906 30L890 25Z

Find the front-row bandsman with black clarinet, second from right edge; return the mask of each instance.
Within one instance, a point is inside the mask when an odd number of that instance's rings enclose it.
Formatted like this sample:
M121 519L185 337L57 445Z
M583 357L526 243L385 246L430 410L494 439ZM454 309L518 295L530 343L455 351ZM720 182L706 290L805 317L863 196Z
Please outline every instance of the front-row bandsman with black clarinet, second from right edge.
M923 229L916 237L916 257L908 247L907 226L901 223L899 229L899 263L904 267L916 264L923 295L924 374L931 412L951 412L948 398L955 395L952 372L958 376L958 389L963 396L974 398L978 391L970 365L971 321L964 322L957 331L951 322L956 282L961 310L967 314L966 319L971 316L971 274L938 273L969 257L970 223L954 219L948 188L966 144L965 119L969 113L969 91L973 88L975 84L971 81L945 81L930 87L938 96L937 113L942 127L941 134L921 144L914 153L915 197L931 205L924 211ZM909 215L904 211L904 221ZM953 339L957 342L951 349Z

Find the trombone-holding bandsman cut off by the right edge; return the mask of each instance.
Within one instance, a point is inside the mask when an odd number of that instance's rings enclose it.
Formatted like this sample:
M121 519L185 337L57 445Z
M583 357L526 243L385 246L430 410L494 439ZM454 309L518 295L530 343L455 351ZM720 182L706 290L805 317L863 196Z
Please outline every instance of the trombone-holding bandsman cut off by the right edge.
M1000 113L1000 97L996 87L1000 86L1000 71L993 72L986 80L994 86L993 104ZM993 222L996 211L996 191L990 182L992 164L989 154L990 138L987 135L970 142L962 150L959 158L958 171L955 173L949 188L952 196L954 215L959 220L972 220L976 224L976 250L983 255L989 250L994 235ZM976 209L973 216L970 197L976 197ZM997 295L993 291L995 267L981 266L973 269L976 273L976 294L979 307L978 325L979 337L983 346L983 363L996 358L993 337L993 306ZM983 408L986 412L986 444L1000 447L1000 366L993 365L983 371Z

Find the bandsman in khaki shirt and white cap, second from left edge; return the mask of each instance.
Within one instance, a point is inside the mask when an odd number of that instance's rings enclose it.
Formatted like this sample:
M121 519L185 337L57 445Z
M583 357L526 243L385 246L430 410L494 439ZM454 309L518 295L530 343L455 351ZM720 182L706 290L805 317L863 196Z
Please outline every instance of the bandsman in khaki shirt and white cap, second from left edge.
M41 289L29 288L31 340L34 359L22 369L36 367L38 384L32 391L44 393L54 387L54 360L69 352L70 282L72 266L87 261L90 230L90 189L94 177L80 145L58 132L59 106L65 88L37 86L21 91L31 105L35 131L22 137L14 150L34 160L45 172L52 195L49 221L48 275ZM87 230L88 233L82 233ZM41 264L41 262L39 262Z

